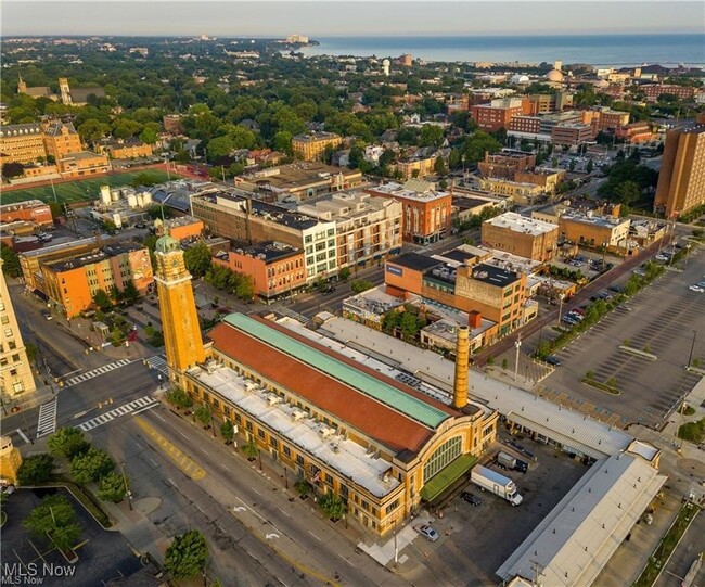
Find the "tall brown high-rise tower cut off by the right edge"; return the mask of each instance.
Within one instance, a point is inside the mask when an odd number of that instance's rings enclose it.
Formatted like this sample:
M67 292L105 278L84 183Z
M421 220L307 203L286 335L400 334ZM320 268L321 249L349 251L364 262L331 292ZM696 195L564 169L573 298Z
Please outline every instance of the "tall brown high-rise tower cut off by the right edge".
M666 136L654 208L667 218L705 203L705 125Z

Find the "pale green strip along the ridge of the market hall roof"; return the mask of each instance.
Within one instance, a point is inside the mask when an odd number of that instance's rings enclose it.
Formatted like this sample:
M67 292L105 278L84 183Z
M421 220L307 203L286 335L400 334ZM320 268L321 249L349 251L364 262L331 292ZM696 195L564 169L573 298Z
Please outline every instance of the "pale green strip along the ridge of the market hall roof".
M384 383L248 316L231 314L223 320L251 336L329 374L422 424L435 429L450 418L448 412L432 406L423 399Z

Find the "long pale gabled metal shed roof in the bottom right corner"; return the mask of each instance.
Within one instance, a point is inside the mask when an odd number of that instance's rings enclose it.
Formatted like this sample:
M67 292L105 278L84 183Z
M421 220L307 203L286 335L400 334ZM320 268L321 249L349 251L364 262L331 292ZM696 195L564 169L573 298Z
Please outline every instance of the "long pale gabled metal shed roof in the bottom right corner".
M598 461L529 534L497 574L551 587L592 585L666 482L630 452Z

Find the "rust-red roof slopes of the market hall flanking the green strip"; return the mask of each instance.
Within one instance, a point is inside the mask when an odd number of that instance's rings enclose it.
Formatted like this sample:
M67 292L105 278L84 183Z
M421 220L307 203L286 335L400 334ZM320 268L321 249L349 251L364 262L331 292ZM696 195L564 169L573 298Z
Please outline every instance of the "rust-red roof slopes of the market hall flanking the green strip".
M354 365L357 369L383 379L411 395L421 397L449 416L457 412L439 401L430 400L426 396L412 392L409 387L398 384L388 378L381 378L359 362L347 359L321 345L296 335L290 330L262 320L270 328L283 331L289 336L335 357L338 360ZM381 404L362 392L350 387L330 375L281 353L259 340L251 336L226 322L220 322L209 333L214 346L220 353L249 367L260 375L278 383L285 390L300 396L307 403L330 413L351 429L360 431L366 436L394 450L403 449L418 451L433 435L433 430Z

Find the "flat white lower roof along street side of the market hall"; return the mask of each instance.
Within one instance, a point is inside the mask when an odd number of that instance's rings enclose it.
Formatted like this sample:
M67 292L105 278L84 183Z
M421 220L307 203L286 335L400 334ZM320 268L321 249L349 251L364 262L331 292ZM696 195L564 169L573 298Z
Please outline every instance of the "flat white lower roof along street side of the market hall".
M372 495L383 497L399 486L400 482L394 476L385 477L390 462L374 458L363 446L337 435L335 430L312 420L303 410L282 403L280 396L247 381L229 367L218 367L211 372L192 370L190 374Z

